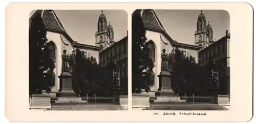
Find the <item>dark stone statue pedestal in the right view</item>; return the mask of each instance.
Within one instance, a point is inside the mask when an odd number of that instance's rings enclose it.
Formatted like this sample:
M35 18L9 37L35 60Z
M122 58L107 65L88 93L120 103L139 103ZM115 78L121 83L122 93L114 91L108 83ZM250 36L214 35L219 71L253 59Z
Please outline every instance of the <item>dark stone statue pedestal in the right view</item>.
M158 75L159 88L155 96L176 96L172 89L171 75L169 72L163 71Z

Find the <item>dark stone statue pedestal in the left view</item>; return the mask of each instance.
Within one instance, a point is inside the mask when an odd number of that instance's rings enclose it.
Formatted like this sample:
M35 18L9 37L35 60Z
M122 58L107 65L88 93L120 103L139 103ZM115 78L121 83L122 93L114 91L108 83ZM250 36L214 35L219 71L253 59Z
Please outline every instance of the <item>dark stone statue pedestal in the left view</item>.
M72 88L72 75L69 72L63 72L59 76L60 88L57 97L75 97L76 94Z

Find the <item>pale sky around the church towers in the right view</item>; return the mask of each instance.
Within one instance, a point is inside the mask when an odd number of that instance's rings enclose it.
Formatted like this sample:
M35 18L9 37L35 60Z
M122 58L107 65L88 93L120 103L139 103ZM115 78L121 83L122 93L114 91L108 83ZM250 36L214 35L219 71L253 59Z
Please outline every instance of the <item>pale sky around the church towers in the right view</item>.
M167 34L177 42L195 45L197 19L201 10L154 10ZM214 32L214 40L230 30L229 13L224 10L203 10Z

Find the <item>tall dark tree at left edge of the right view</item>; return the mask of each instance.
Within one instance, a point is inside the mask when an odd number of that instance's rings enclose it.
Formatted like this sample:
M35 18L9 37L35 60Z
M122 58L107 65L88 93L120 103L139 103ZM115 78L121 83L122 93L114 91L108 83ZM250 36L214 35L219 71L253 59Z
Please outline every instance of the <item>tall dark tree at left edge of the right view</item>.
M149 91L154 85L150 75L154 68L153 60L148 55L144 24L140 16L141 10L132 15L132 91Z

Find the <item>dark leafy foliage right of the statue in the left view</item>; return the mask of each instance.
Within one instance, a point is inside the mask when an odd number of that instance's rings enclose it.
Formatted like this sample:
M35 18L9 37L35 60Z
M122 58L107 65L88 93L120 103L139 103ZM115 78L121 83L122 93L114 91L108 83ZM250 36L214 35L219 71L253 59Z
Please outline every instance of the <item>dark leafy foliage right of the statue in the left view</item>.
M112 66L100 67L96 58L86 57L76 49L70 55L73 90L80 96L110 96L112 90ZM100 77L100 78L99 78ZM114 81L113 81L114 82ZM115 87L115 86L114 86Z

